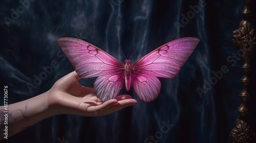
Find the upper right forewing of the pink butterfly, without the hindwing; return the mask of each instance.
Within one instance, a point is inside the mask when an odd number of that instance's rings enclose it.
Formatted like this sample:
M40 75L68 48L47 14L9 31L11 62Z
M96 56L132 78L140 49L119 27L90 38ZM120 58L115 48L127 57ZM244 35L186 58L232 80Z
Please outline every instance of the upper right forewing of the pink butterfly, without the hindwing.
M174 78L199 43L195 37L184 37L158 47L132 64L138 74Z

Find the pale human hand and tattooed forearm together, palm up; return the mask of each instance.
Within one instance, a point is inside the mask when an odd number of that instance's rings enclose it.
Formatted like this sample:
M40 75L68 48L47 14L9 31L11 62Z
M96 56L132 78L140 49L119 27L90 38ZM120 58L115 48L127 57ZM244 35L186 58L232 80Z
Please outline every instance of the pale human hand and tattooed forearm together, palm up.
M31 99L8 105L8 137L53 115L102 116L137 104L129 95L102 102L94 94L93 88L80 85L79 80L80 77L73 71L55 82L50 90ZM0 106L1 120L5 118L4 109L4 106ZM4 139L6 125L3 125L3 121L1 124L0 139Z

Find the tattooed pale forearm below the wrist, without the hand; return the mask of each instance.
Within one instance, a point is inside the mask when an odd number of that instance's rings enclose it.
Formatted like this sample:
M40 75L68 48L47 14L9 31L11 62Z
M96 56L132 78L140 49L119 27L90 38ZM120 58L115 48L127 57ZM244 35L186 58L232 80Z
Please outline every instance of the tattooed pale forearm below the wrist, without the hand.
M48 91L34 98L10 104L8 105L7 110L4 106L1 106L0 120L2 121L0 123L0 139L8 138L27 129L44 118L52 116L53 113L48 108L47 94ZM7 129L8 134L5 134L7 133ZM8 137L5 137L7 135Z

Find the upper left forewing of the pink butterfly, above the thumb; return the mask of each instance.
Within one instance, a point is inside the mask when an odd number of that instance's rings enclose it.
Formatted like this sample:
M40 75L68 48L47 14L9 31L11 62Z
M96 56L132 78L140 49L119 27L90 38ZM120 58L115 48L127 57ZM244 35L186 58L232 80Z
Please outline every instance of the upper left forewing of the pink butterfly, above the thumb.
M81 78L109 75L123 69L122 62L91 43L67 37L57 42Z

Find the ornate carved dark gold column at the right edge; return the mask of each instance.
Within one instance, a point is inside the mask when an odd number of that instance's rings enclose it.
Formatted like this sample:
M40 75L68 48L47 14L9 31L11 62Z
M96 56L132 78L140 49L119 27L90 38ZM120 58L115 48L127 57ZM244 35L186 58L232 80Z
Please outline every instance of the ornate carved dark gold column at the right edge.
M255 0L254 0L255 1ZM255 132L251 129L250 125L246 122L248 109L246 107L247 101L250 99L248 93L248 85L250 80L248 75L251 71L250 59L252 53L255 51L256 37L255 37L255 13L252 13L252 6L255 3L253 0L243 0L245 8L242 12L243 20L240 22L239 29L233 31L233 42L238 46L239 53L242 55L244 64L242 70L244 76L241 79L243 90L239 94L241 104L237 108L240 117L235 123L235 128L231 130L229 137L233 142L256 142ZM254 63L255 64L255 63ZM254 93L255 94L255 93Z

